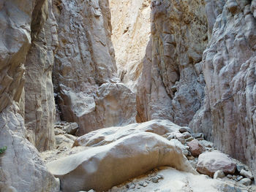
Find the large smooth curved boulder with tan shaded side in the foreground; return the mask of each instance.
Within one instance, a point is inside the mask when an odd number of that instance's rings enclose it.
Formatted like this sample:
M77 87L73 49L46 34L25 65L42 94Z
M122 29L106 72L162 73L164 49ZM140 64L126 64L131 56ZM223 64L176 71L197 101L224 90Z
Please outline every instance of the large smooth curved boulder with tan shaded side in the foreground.
M63 192L108 190L159 166L196 173L181 149L152 133L132 134L47 164Z

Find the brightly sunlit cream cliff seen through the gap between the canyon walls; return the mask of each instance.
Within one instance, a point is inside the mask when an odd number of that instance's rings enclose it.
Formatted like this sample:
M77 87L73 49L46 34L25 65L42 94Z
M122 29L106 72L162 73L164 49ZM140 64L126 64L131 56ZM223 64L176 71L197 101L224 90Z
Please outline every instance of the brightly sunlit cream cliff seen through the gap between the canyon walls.
M110 0L118 77L134 92L151 34L150 4L151 0Z

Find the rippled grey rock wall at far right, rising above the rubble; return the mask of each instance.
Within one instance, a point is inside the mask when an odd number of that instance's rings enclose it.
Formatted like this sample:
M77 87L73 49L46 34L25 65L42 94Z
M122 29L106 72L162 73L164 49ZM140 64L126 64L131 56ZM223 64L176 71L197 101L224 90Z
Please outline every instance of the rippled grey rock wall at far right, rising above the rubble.
M255 1L226 1L222 8L203 53L207 94L203 107L211 116L201 110L190 126L196 130L201 124L206 133L210 129L219 149L256 170ZM209 121L212 128L206 126Z

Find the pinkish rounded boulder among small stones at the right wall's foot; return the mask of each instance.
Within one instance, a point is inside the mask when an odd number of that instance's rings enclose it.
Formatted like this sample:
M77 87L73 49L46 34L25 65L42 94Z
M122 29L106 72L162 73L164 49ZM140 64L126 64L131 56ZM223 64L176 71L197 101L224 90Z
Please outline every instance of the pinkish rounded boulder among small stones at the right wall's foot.
M236 164L227 155L219 151L199 155L197 172L214 177L214 173L218 170L222 170L225 174L233 174L236 171Z

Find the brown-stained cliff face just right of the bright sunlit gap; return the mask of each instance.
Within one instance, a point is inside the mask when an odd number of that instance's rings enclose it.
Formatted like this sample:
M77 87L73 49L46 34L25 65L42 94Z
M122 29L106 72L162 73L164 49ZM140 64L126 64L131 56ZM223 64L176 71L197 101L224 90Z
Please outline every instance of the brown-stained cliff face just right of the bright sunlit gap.
M203 50L208 42L202 1L152 1L151 41L138 81L138 122L169 119L187 126L203 102Z

